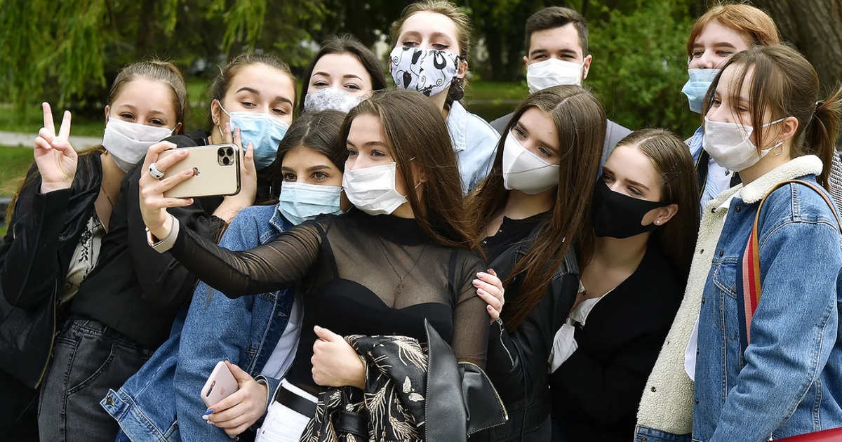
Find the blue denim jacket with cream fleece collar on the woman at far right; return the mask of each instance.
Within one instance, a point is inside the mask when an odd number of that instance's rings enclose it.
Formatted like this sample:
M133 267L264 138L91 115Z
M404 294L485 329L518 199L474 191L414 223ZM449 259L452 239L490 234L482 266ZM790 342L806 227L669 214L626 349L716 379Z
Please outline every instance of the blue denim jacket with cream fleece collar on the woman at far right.
M821 171L818 157L791 162L808 166L806 181ZM839 226L802 184L775 190L760 213L763 292L740 354L738 265L759 200L794 178L783 173L788 166L740 189L728 206L701 300L694 440L761 442L842 426Z

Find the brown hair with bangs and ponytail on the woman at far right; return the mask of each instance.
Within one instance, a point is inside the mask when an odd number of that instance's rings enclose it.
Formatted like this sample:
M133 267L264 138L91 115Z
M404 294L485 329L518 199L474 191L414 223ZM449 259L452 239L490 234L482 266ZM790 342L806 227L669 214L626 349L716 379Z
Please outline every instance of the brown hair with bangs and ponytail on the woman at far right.
M766 130L763 127L766 111L771 119L778 120L795 117L798 128L792 136L790 157L816 155L823 163L823 170L817 177L818 183L830 189L828 177L836 151L836 136L839 134L839 115L842 112L842 88L837 87L828 99L818 97L818 74L813 65L798 51L788 45L754 46L731 57L722 67L738 71L733 76L733 84L728 85L734 102L739 101L740 91L749 70L753 73L749 84L749 107L751 125L754 127L758 152L763 147ZM717 90L720 73L711 84L711 91ZM702 115L713 105L714 94L708 93Z

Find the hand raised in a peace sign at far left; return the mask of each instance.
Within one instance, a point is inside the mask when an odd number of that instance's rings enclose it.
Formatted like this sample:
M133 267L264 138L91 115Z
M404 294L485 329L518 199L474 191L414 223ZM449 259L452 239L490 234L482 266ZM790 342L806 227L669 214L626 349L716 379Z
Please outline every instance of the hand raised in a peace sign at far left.
M61 129L56 136L50 104L44 103L42 107L44 127L35 138L35 164L41 175L41 193L46 194L53 190L70 189L76 175L78 155L67 140L70 137L70 111L64 111Z

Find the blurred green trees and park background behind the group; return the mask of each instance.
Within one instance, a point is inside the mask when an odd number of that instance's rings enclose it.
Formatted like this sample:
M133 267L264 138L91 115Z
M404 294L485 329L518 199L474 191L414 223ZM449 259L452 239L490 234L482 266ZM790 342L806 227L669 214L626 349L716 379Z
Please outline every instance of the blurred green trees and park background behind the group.
M205 124L205 88L242 51L280 56L301 74L318 43L349 33L386 67L386 38L408 0L0 0L0 196L32 162L41 101L73 112L72 135L101 137L109 84L120 67L157 56L188 80L188 130ZM486 120L508 114L528 90L524 25L546 6L589 21L594 57L585 86L611 120L689 136L699 126L680 92L686 39L708 0L456 0L475 25L464 103ZM842 74L842 0L755 0L830 87ZM389 77L389 76L387 76ZM391 77L390 77L391 80ZM301 82L300 82L301 83ZM18 134L11 136L9 134ZM31 137L29 137L31 136ZM17 145L23 144L23 148Z

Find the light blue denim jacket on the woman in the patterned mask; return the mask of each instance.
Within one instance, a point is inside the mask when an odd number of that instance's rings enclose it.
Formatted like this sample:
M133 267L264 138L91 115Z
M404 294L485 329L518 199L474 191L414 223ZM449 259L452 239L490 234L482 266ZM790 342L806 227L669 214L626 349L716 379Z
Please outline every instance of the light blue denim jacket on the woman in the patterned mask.
M447 130L456 151L462 193L468 194L491 171L500 134L485 120L468 112L458 101L450 105Z

